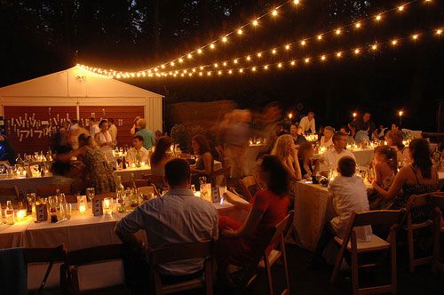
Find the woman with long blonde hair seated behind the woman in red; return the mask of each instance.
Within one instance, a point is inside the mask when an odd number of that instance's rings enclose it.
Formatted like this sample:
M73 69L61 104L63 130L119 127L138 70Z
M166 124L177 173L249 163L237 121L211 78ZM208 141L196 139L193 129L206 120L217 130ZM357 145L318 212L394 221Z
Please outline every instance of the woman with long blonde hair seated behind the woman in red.
M284 167L289 171L289 195L291 199L294 199L296 195L296 181L302 179L302 173L297 160L297 149L294 146L291 135L284 134L276 140L272 155L277 155Z

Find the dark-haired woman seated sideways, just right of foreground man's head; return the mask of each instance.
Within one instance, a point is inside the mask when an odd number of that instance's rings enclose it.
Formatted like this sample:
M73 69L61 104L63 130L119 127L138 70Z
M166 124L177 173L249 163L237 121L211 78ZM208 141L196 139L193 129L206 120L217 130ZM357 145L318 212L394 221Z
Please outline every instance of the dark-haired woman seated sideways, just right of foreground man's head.
M193 137L191 146L197 158L194 167L191 167L191 183L199 190L201 187L200 177L204 176L207 178L207 182L210 182L214 167L213 155L211 155L210 143L202 134Z

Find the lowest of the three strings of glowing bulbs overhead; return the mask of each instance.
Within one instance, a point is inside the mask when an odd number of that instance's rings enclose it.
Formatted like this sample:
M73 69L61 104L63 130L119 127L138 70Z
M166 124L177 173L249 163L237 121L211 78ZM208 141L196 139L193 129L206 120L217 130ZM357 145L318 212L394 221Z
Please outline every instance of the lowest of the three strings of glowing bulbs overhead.
M320 53L315 54L312 56L305 56L304 58L299 59L291 59L291 60L285 60L285 61L276 61L273 63L266 63L262 65L251 65L247 67L238 67L238 68L216 68L216 69L210 69L210 70L204 70L204 68L185 68L183 70L171 70L169 72L160 72L151 74L153 77L202 77L202 76L223 76L223 75L229 75L232 76L234 74L255 74L260 72L261 70L263 72L273 71L273 70L282 70L284 68L297 68L299 64L303 64L305 66L311 65L315 61L319 61L321 63L325 63L328 60L331 60L331 58L335 60L342 60L345 57L359 57L362 54L366 52L379 52L384 46L387 48L397 48L401 44L405 43L405 41L410 42L418 42L422 39L423 36L425 36L427 33L430 32L415 32L414 34L405 36L405 37L394 37L390 40L387 40L385 42L372 42L361 46L354 46L353 48L349 50L337 50L336 52L326 52L326 53ZM442 28L434 29L432 31L433 36L441 36L443 33Z

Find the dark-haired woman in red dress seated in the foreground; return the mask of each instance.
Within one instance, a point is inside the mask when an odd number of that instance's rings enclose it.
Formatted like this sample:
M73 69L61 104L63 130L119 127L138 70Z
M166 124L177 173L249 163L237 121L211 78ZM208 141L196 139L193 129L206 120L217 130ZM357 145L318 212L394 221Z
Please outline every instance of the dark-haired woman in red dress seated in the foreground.
M276 226L287 215L289 207L289 173L275 155L266 155L260 165L259 181L266 187L251 199L251 203L231 192L224 194L226 201L244 211L247 220L239 221L220 216L219 240L216 246L218 279L226 280L228 265L246 266L254 263L253 250L260 244L267 229Z

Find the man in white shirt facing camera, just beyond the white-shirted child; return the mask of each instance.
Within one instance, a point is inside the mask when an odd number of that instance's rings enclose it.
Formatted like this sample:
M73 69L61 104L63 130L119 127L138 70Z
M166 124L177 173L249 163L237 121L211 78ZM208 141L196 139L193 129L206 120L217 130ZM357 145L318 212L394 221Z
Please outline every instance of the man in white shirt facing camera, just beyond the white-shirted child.
M323 176L329 176L329 169L332 171L337 170L337 162L345 155L350 156L356 161L354 154L345 150L347 145L347 134L343 132L336 132L333 135L333 148L330 148L324 154L321 155L321 158L318 161L317 171L321 173Z

